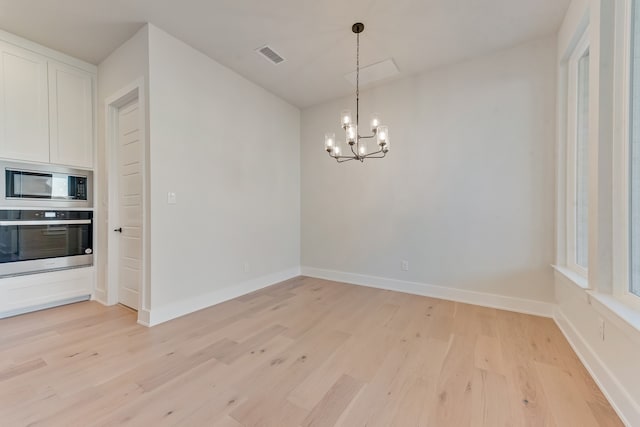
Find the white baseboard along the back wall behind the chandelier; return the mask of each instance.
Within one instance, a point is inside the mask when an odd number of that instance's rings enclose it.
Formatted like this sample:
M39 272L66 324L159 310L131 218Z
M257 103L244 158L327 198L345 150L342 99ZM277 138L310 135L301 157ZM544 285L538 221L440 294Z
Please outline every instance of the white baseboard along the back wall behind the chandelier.
M444 286L427 285L425 283L408 282L405 280L388 279L385 277L366 276L362 274L345 273L342 271L324 270L321 268L304 266L301 270L304 276L315 277L318 279L334 280L336 282L345 282L353 285L440 298L467 304L498 308L500 310L533 314L536 316L553 317L553 310L555 307L555 304L551 302L535 301Z

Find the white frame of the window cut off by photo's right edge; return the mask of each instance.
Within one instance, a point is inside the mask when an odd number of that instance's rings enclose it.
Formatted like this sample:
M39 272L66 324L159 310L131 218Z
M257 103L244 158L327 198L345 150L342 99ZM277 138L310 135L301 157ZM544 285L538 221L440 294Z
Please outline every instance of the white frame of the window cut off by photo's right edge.
M614 52L613 141L613 296L640 310L640 296L631 292L631 72L633 1L621 0L616 8ZM640 7L640 0L635 0ZM638 82L637 84L640 84Z

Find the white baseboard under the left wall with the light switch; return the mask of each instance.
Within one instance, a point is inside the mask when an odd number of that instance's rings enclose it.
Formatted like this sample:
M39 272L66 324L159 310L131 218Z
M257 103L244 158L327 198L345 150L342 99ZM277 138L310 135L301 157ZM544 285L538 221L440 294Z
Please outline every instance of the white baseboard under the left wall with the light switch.
M138 323L144 326L155 326L171 319L184 316L221 302L229 301L242 295L249 294L267 286L274 285L300 275L300 268L292 268L255 279L230 285L204 295L176 301L151 310L141 310Z

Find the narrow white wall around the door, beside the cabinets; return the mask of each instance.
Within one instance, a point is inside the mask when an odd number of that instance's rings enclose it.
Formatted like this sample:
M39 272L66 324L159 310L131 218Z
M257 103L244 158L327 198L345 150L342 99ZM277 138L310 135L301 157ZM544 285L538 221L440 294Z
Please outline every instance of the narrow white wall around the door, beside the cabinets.
M149 31L142 27L131 39L116 49L98 66L98 198L95 200L98 224L96 297L106 302L107 234L108 234L108 159L105 146L105 100L134 81L149 76ZM145 91L149 93L148 90ZM148 132L147 132L148 136ZM148 141L147 141L148 143Z

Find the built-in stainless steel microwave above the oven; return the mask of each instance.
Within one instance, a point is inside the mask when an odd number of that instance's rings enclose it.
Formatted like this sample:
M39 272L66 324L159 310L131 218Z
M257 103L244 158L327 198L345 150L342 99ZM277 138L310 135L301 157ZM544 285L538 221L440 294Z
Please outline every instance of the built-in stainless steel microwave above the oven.
M93 173L54 165L0 162L4 207L91 208Z

